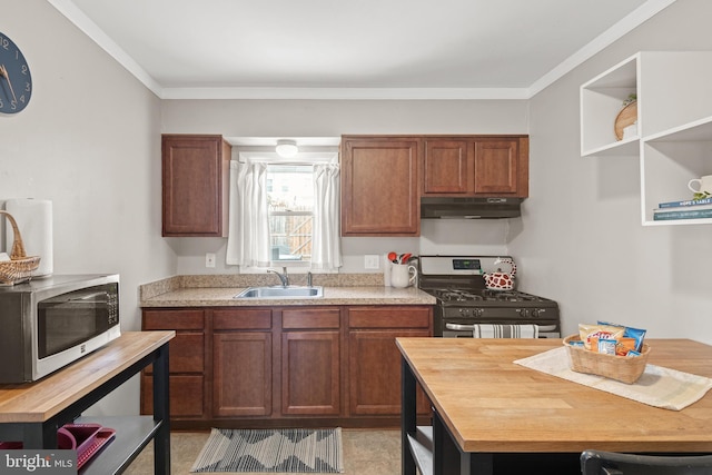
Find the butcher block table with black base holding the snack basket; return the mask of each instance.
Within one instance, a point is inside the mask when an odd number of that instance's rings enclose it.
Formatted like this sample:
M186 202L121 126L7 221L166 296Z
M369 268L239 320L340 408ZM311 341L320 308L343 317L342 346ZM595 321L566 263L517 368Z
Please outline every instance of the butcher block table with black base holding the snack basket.
M587 448L712 453L712 392L675 412L513 364L560 347L561 339L396 343L403 355L405 475L415 474L416 462L423 474L436 475L518 473L521 466L531 474L538 464L541 473L577 473ZM649 344L650 364L712 377L712 346L688 339ZM432 431L416 427L416 380L434 408Z

